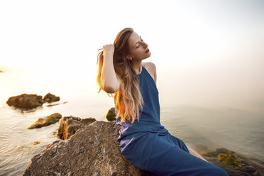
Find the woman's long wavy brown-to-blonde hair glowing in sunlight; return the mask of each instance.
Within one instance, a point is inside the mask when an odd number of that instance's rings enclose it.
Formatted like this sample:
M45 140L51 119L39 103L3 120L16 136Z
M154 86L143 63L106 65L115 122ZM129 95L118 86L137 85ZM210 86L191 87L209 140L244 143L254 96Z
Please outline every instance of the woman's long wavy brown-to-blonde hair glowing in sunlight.
M133 28L123 28L114 40L114 70L116 72L116 77L120 82L119 90L114 93L114 103L117 111L115 118L120 116L121 122L125 123L126 120L131 121L131 123L133 123L135 119L138 119L139 121L139 111L140 109L143 109L144 104L139 87L138 75L133 70L131 64L132 61L126 59L126 55L130 53L128 38L131 33L133 33ZM99 50L102 50L102 48ZM101 83L101 70L103 63L104 55L103 51L101 51L97 55L97 84L99 85L99 92L103 89ZM109 97L113 97L113 94L107 94Z

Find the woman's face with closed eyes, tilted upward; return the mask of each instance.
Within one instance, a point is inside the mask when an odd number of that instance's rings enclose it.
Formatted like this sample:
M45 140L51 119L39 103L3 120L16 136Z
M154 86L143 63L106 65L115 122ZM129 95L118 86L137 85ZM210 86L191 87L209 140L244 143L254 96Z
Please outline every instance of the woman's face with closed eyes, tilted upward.
M128 45L130 48L128 59L143 60L151 55L150 50L148 50L148 44L136 32L131 33L128 38ZM148 53L145 53L146 50L148 50Z

